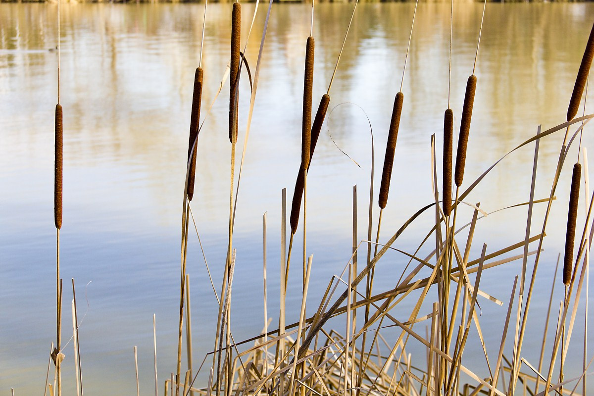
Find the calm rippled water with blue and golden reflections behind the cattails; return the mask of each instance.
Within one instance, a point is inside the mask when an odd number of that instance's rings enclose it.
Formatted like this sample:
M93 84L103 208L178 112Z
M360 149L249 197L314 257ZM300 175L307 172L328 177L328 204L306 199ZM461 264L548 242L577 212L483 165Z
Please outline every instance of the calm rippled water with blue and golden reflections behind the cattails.
M355 184L361 216L359 239L366 235L371 142L364 112L376 142L377 194L383 145L391 105L400 88L413 7L359 5L331 90L330 107L341 105L327 117L328 128L325 124L308 178L308 251L314 254L315 263L308 301L319 299L330 276L339 274L349 259ZM253 10L253 4L243 7L242 40ZM233 284L232 325L236 339L247 338L263 327L261 224L265 212L268 313L274 317L273 322L277 320L281 190L286 187L290 199L300 160L299 103L309 10L308 5L274 4L268 27L235 225L238 267ZM2 394L8 394L10 387L20 395L42 391L50 343L55 339L52 191L58 58L52 49L57 43L56 11L52 4L0 4L0 143L4 148L0 160ZM175 370L179 224L192 79L198 65L204 8L182 4L78 4L63 5L61 11L65 132L61 274L67 286L64 338L67 340L70 332L70 279L75 278L78 317L83 318L80 348L87 394L134 393L134 345L138 346L141 392L149 394L153 389L153 313L157 315L160 383ZM315 104L326 92L351 11L349 4L316 7ZM481 11L480 4L458 4L454 9L451 107L457 124L475 58ZM245 50L252 73L265 16L263 5ZM478 88L465 186L535 134L539 124L546 129L565 120L593 19L591 4L487 5L476 66ZM203 117L228 62L229 20L230 5L208 6ZM448 103L449 21L447 4L419 5L402 88L405 104L390 201L383 214L382 240L432 201L430 143L431 135L437 134L440 157L443 112ZM243 80L239 122L240 130L245 131L249 84L246 78ZM227 95L225 85L200 134L197 192L192 202L216 285L222 277L228 224ZM242 136L240 133L238 147L243 144ZM562 140L556 134L541 144L536 198L548 195ZM583 145L592 147L591 143L592 138L584 135ZM576 154L574 145L569 163ZM533 145L508 157L467 201L480 201L486 211L527 201L532 157ZM538 362L534 347L541 340L554 263L563 249L570 173L570 167L566 167L547 230L538 275L545 291L532 303L530 331L534 335L529 337L525 351L533 363ZM542 209L535 210L535 233L542 226ZM377 217L377 204L374 210ZM583 212L580 210L581 216ZM470 208L461 211L460 223L469 220L471 214ZM522 240L525 218L526 208L517 208L481 220L473 256L483 242L492 251ZM431 221L431 213L419 218L395 246L413 252ZM296 238L296 246L301 243ZM431 246L424 251L428 249ZM195 233L190 239L188 260L194 362L200 362L204 353L213 349L216 301ZM402 256L388 255L378 267L381 276L375 290L393 287L401 271L394 268L402 268L403 262ZM489 271L482 289L507 300L513 276L519 271L518 262ZM296 318L301 271L296 268L292 276L295 287L290 290L288 304ZM560 299L561 287L557 285L555 306ZM411 303L414 301L405 303L405 308L396 313L407 317ZM312 309L314 306L311 303ZM505 309L484 300L481 306L484 327L492 330L486 331L488 348L491 356L496 356ZM579 330L583 329L582 313L576 326L575 350L570 351L573 363L568 363L572 373L577 372L582 359L578 354L583 340L583 330ZM468 348L469 359L479 356L476 343ZM71 344L65 353L66 394L72 394ZM424 351L419 349L419 353L418 364L423 365ZM481 365L478 363L476 370L486 375Z

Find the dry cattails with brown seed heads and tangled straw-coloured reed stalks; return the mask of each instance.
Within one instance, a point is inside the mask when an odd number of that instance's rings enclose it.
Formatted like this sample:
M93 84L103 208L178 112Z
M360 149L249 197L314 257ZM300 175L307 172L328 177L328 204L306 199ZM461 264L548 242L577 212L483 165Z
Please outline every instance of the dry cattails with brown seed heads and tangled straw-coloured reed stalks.
M353 17L356 12L353 7ZM272 1L268 6L266 25L261 39L260 53L258 53L254 83L251 85L251 102L248 120L254 106L255 92L258 83L258 72L264 42L266 40L266 26L270 16ZM254 11L257 12L257 9ZM313 8L312 8L313 12ZM416 8L415 8L416 14ZM206 5L205 5L206 18ZM312 15L313 18L313 15ZM577 211L580 206L579 195L581 186L582 164L579 160L573 167L571 179L571 194L568 202L567 237L563 261L563 283L565 285L564 300L561 303L557 317L557 325L549 334L548 317L542 335L542 347L538 364L530 362L522 354L523 340L527 326L527 315L530 299L536 284L536 271L542 252L542 243L546 235L546 223L555 190L562 176L568 150L576 137L582 134L584 126L594 118L594 115L584 115L576 118L577 106L581 103L587 75L594 53L594 26L586 44L582 65L578 71L576 87L570 100L567 122L560 123L553 128L541 131L528 140L522 142L486 169L466 189L462 189L463 176L466 166L467 148L469 143L470 121L472 118L473 102L476 91L476 58L473 74L466 83L466 95L460 116L460 134L457 142L457 157L454 182L456 183L456 198L452 199L452 159L454 144L454 110L448 108L444 113L443 135L443 179L442 198L438 197L437 154L435 150L436 138L432 139L431 165L432 186L434 186L435 201L419 208L416 213L409 214L407 220L397 230L390 230L391 236L380 243L381 210L386 208L393 161L396 154L397 135L399 134L400 119L404 94L402 83L396 94L388 130L384 166L381 175L381 185L378 192L380 215L377 221L377 234L372 242L372 204L374 195L373 170L370 175L368 239L359 240L356 186L353 188L353 249L347 252L346 263L342 273L330 278L326 292L316 302L308 301L308 288L314 259L307 256L305 213L307 203L307 173L311 166L314 150L323 127L328 105L330 103L330 88L340 60L337 56L334 73L328 84L328 90L321 96L320 104L311 119L313 70L314 70L314 37L313 33L307 37L305 68L304 68L304 100L302 112L302 145L301 163L298 177L293 191L293 199L289 214L290 240L286 251L286 189L282 191L282 242L280 246L280 312L277 325L269 326L271 318L267 309L267 218L263 217L263 280L264 280L264 324L263 331L247 340L235 340L231 328L230 312L232 305L233 275L236 267L236 252L233 249L233 221L235 218L235 204L239 196L239 179L235 178L235 150L238 141L238 99L239 77L242 65L247 66L247 60L241 49L241 5L233 4L232 34L230 40L229 62L229 140L231 142L230 157L230 201L229 201L229 240L228 254L223 268L223 281L220 292L217 293L213 284L213 291L219 303L219 312L214 334L213 350L201 361L195 369L192 351L191 330L191 297L189 292L189 275L186 273L188 251L188 229L193 215L190 201L194 195L195 161L198 151L198 134L200 132L201 94L203 90L203 69L201 65L195 71L194 89L192 96L191 121L189 128L189 143L187 153L187 174L182 206L182 240L181 240L181 274L179 294L179 332L178 359L175 373L162 382L164 394L204 395L204 396L507 396L522 394L523 396L544 396L546 394L571 395L576 394L577 385L582 382L585 396L586 374L589 370L589 360L586 356L586 346L583 348L583 373L577 378L564 378L564 365L570 346L571 335L576 327L576 312L580 305L583 285L586 284L589 264L589 246L594 236L592 199L586 186L586 218L579 223ZM353 19L349 22L352 23ZM414 23L414 15L413 15ZM345 34L348 34L347 28ZM251 28L250 28L251 31ZM479 43L481 30L479 30ZM412 27L411 32L412 36ZM247 34L249 37L249 33ZM344 46L344 42L343 42ZM478 57L479 45L476 56ZM244 49L245 52L245 49ZM450 59L451 61L451 59ZM406 58L402 80L405 78ZM251 73L247 70L250 81ZM59 98L58 98L59 102ZM577 104L576 104L577 103ZM574 111L575 110L575 111ZM202 115L203 118L207 116ZM549 197L535 197L536 163L538 160L539 142L549 138L557 132L565 131L563 145L557 169L552 180ZM406 133L409 131L405 131ZM247 147L249 135L249 121L244 137L244 151ZM61 394L60 365L64 359L61 352L61 297L62 280L59 277L59 229L62 225L62 107L56 105L55 113L55 226L58 230L58 277L57 277L57 342L52 348L52 357L56 366L55 384L48 389L53 395L53 388L57 387L57 394ZM529 145L535 145L533 178L528 202L520 202L514 207L526 207L528 210L526 237L510 246L493 250L482 243L480 254L476 255L475 241L477 227L481 226L481 219L485 213L480 204L469 204L463 201L476 186L494 169L508 154L517 150L525 150ZM587 157L584 153L584 180L587 175ZM372 168L373 169L373 168ZM401 170L397 170L400 172ZM564 174L563 174L564 176ZM399 188L406 186L399 186ZM235 197L235 199L234 199ZM304 205L304 271L302 277L301 305L299 316L287 318L286 294L289 280L289 264L292 251L293 236L299 227L301 204ZM457 211L460 204L472 207L472 216L464 218L462 211ZM534 205L546 204L543 218L533 219ZM544 206L544 205L543 205ZM435 224L426 230L426 236L419 238L418 248L413 252L397 248L396 241L405 230L422 214L435 211ZM542 229L535 232L530 229L533 221L542 221ZM456 226L461 223L463 226ZM576 245L576 227L583 227L581 236L577 239L577 255L574 255ZM431 242L429 242L431 241ZM482 242L482 241L481 241ZM432 243L435 243L433 246ZM422 256L421 250L431 245L429 254ZM363 264L358 263L360 249L366 249L367 259ZM372 254L372 251L374 253ZM399 281L388 290L373 289L374 271L380 264L388 261L387 252L397 251L408 260L403 268L393 268L400 274ZM205 260L206 261L206 260ZM511 286L508 299L500 300L482 290L486 271L514 261L522 261L522 274L513 281L506 280ZM533 262L532 268L529 262ZM391 263L388 261L388 265ZM210 276L210 270L208 269ZM528 290L525 290L527 275L530 275ZM556 277L556 273L555 273ZM555 284L551 289L548 316L555 316L552 299ZM74 280L72 280L74 293ZM481 304L495 303L505 306L505 317L502 319L503 332L498 337L497 356L488 356L481 327L479 309ZM408 306L409 311L403 312L402 306ZM587 311L587 299L586 299ZM362 314L364 312L364 315ZM552 313L551 313L552 312ZM312 315L308 316L308 313ZM288 320L287 320L288 319ZM555 319L555 318L554 318ZM185 343L187 370L182 370L182 334L185 325ZM587 322L587 321L586 321ZM336 330L340 324L342 330ZM72 331L74 338L75 363L77 365L77 392L83 394L82 378L80 374L80 360L78 360L78 319L76 302L72 300ZM472 340L471 332L478 337ZM387 335L390 334L390 335ZM545 357L545 343L548 337L554 339L550 359ZM153 316L154 337L154 381L155 394L159 394L159 381L156 366L156 317ZM549 338L550 338L549 337ZM472 341L470 341L472 340ZM587 325L584 326L584 340L587 340ZM484 354L489 374L479 375L474 367L465 366L464 354L469 342L478 341ZM414 344L414 345L413 345ZM507 345L507 347L506 347ZM489 345L489 347L491 347ZM413 356L410 350L421 348L425 351L421 356ZM511 354L505 353L510 351ZM580 356L582 357L582 356ZM136 373L137 394L140 395L138 384L137 349L134 346L134 362ZM204 365L206 361L208 363ZM210 366L210 367L209 367ZM210 372L208 372L210 370ZM202 373L208 376L206 384L198 385L197 378ZM49 369L48 369L49 376ZM198 382L200 382L198 380ZM46 384L48 379L46 378Z

